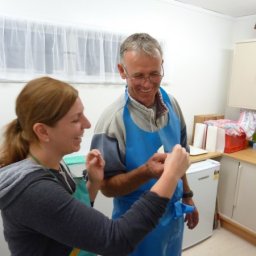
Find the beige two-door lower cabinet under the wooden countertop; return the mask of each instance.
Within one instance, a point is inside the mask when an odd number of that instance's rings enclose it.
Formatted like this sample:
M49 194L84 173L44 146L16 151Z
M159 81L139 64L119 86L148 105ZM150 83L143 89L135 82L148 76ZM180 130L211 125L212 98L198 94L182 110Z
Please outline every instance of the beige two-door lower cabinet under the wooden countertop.
M256 234L256 165L223 156L218 187L219 213Z

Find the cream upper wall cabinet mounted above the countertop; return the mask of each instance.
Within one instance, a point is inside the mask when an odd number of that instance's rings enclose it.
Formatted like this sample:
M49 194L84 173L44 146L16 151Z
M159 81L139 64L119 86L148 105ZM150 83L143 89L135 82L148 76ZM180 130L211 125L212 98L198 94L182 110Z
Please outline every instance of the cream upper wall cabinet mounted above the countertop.
M256 39L234 47L228 93L230 107L256 109Z

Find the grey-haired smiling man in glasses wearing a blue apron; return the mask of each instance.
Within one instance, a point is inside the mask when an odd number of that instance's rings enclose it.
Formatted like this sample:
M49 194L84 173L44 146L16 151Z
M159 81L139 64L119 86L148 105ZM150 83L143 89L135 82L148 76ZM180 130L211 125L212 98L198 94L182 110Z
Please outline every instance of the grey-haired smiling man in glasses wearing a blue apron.
M113 218L126 212L156 182L166 158L159 149L170 152L175 144L189 148L179 105L160 87L162 55L159 43L148 34L133 34L122 43L118 70L127 88L96 125L91 148L98 148L106 160L101 190L114 197ZM189 228L198 223L192 196L183 176L159 225L131 255L181 255L183 213L189 212L185 217Z

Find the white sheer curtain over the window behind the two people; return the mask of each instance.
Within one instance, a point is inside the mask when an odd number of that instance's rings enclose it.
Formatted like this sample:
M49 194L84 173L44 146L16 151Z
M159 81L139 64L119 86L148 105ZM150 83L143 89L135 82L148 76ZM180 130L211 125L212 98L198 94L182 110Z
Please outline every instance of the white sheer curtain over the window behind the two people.
M74 83L121 83L124 35L0 17L0 80L49 75Z

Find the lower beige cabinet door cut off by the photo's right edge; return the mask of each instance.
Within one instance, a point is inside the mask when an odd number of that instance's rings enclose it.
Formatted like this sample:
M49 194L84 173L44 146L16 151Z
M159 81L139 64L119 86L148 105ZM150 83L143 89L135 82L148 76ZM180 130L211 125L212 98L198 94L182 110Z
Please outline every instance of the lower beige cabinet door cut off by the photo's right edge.
M256 165L240 162L233 219L256 232Z

